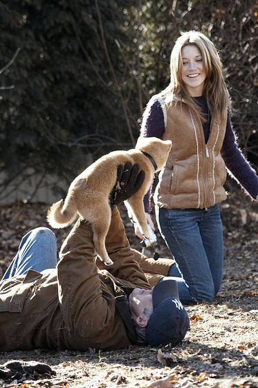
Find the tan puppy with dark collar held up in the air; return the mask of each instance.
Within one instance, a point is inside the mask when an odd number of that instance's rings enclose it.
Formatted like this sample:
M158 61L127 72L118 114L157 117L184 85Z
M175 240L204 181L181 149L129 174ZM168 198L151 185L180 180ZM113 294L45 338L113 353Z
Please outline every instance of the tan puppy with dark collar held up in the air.
M68 189L66 200L60 200L48 210L48 222L53 228L67 227L79 213L84 220L93 227L93 242L95 252L106 265L113 264L107 254L105 239L111 222L111 208L109 194L117 180L119 165L130 161L138 164L140 170L145 171L142 186L125 201L127 210L136 220L140 232L149 240L143 197L147 193L154 177L165 165L172 142L160 140L156 137L140 137L136 148L129 151L113 151L104 155L86 170L78 175Z

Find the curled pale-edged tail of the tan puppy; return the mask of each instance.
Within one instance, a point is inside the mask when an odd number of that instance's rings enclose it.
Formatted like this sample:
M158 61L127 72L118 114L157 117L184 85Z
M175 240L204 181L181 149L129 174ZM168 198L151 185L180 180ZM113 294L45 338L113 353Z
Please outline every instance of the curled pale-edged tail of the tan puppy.
M63 204L63 200L60 200L48 209L46 218L51 227L55 229L68 227L77 215L77 209L73 204L70 203L68 206L63 206Z

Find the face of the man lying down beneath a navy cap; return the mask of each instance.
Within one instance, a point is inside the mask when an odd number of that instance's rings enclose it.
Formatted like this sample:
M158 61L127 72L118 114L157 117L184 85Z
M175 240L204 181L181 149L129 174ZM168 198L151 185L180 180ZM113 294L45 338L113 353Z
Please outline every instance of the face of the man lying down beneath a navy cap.
M152 291L144 290L143 288L135 288L129 295L129 306L134 321L139 324L139 319L145 320L144 310L153 309L152 306ZM140 318L139 318L140 317Z

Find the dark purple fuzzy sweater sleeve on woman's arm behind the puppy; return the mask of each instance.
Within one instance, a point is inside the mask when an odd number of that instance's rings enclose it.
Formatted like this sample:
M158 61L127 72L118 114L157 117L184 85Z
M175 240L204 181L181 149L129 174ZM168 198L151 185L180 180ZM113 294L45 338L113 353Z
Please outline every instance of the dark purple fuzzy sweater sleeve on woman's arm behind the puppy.
M161 106L160 98L154 96L149 100L145 112L142 116L142 125L140 128L140 136L143 137L158 137L163 138L165 132L165 114ZM145 212L150 213L150 198L151 188L145 195L143 203Z

